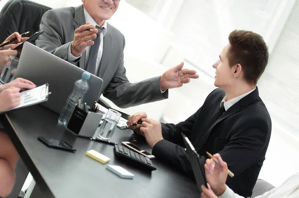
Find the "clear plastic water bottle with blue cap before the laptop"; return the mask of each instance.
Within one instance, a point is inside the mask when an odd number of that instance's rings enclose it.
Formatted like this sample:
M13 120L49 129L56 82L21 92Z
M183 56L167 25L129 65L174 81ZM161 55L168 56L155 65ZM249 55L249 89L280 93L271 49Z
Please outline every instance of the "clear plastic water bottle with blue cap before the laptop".
M90 73L84 72L82 74L82 78L77 80L74 83L74 89L72 93L69 95L69 97L66 100L66 105L63 107L62 112L58 119L58 124L67 126L67 123L74 111L74 108L78 102L78 99L81 98L81 101L83 101L85 94L87 93L89 89L88 80L90 78Z

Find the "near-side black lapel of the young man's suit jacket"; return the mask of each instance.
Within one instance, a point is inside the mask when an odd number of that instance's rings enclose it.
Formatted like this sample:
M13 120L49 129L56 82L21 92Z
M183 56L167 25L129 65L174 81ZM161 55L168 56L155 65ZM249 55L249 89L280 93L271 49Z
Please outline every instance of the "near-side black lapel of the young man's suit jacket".
M259 91L258 91L258 87L257 87L256 90L254 90L252 93L250 93L247 96L245 96L244 98L242 98L240 101L238 101L232 107L230 107L226 112L224 112L224 114L218 120L216 120L216 122L214 122L214 124L212 124L212 126L209 129L204 129L202 131L202 133L199 135L198 139L196 140L196 142L199 141L195 146L196 151L201 150L201 148L205 145L205 143L207 142L207 140L211 134L211 131L218 123L220 123L224 119L234 115L235 113L239 112L240 110L242 110L243 108L245 108L246 106L251 104L258 97L259 97ZM217 104L217 105L220 105L220 104Z

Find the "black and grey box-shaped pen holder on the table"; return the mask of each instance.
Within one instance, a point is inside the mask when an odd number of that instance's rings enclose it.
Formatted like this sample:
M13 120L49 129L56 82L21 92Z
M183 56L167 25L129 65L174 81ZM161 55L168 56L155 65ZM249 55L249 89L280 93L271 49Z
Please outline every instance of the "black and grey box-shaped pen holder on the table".
M75 106L66 128L77 136L92 138L97 131L102 117L103 114L91 111L85 112Z

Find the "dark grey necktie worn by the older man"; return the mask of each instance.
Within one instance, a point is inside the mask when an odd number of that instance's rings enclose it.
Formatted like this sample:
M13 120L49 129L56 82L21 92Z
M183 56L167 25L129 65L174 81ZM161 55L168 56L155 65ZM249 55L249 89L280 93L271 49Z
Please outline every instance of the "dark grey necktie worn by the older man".
M96 28L99 31L97 33L97 37L94 39L95 43L90 48L89 59L88 59L87 69L86 69L86 71L92 74L96 73L97 58L98 58L99 48L101 44L100 34L103 30L103 27L96 26Z

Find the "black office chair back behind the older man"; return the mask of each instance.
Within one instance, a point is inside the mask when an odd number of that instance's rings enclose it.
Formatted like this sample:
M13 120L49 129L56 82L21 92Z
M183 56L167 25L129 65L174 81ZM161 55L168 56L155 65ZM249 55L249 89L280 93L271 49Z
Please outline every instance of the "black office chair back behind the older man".
M42 15L51 7L30 0L9 0L0 12L0 42L17 31L30 31L31 36L39 30ZM32 41L34 44L34 41Z

